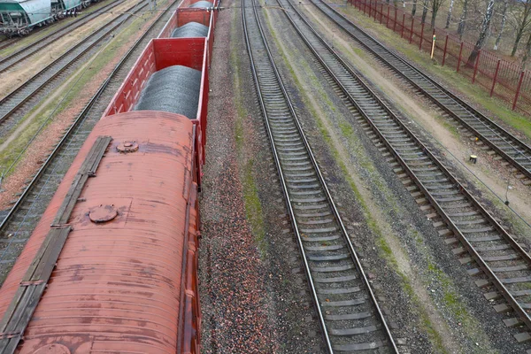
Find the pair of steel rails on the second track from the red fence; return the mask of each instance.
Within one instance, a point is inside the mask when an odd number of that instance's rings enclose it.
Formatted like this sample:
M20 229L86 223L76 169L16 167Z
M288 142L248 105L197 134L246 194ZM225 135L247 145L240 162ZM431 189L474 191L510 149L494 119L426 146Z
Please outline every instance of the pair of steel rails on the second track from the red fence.
M286 0L277 0L281 6L286 7L285 4L282 4L282 1ZM289 0L287 0L289 1ZM290 2L289 2L290 3ZM429 158L429 161L436 165L436 167L443 172L450 183L455 186L455 189L458 189L459 194L462 194L466 197L466 200L468 200L470 203L473 204L473 207L481 213L481 216L489 222L489 225L494 227L496 231L502 235L505 242L507 242L512 250L516 251L516 253L519 255L519 257L527 264L527 269L529 266L531 266L531 257L529 254L523 250L519 243L516 242L511 235L509 235L503 227L499 225L499 223L494 219L489 212L470 194L466 188L461 185L461 183L457 180L457 178L450 173L450 171L441 163L441 161L435 157L435 155L432 153L431 150L427 148L420 140L414 135L408 127L404 125L401 119L399 119L394 112L391 111L389 106L381 101L380 97L372 90L370 89L366 83L361 80L361 78L358 76L358 74L354 73L354 71L350 68L349 65L347 65L342 58L339 57L339 55L330 48L330 46L327 45L327 42L324 41L323 38L321 38L317 31L311 27L311 25L308 23L306 19L301 15L301 13L296 9L296 6L291 6L293 9L293 13L296 13L298 18L304 23L306 27L309 28L309 30L312 32L312 34L319 40L321 45L327 49L327 54L330 54L335 58L335 60L342 65L342 69L344 72L349 73L350 77L358 83L358 85L365 90L365 92L373 98L373 102L377 103L381 110L385 112L389 118L393 121L394 124L396 124L397 127L400 127L401 131L404 132L405 135L409 139L414 142L414 144L419 148L420 151L422 151L422 154L426 155L427 158ZM366 108L362 107L362 104L358 102L358 100L352 96L352 93L350 92L350 89L348 89L345 85L345 83L342 81L341 78L338 77L338 75L335 73L335 71L326 63L326 60L322 58L322 56L319 54L319 52L312 46L312 44L309 42L309 40L304 36L301 29L297 27L296 21L292 19L291 13L284 12L286 16L289 18L291 23L296 27L297 33L301 36L301 38L306 42L309 49L312 50L312 53L316 58L318 58L320 64L325 68L327 73L330 75L330 77L335 81L335 84L342 90L344 96L347 98L348 102L350 104L353 104L354 107L356 107L357 112L363 117L363 119L366 120L368 125L372 128L373 132L379 136L379 139L381 142L384 143L384 145L387 147L389 152L393 154L393 156L396 158L396 161L399 165L402 166L404 171L407 173L408 176L412 179L412 181L417 185L417 187L423 192L425 196L427 196L427 199L430 201L432 206L435 208L435 210L439 213L439 215L442 217L442 219L446 222L447 226L450 228L450 230L458 237L458 240L465 246L466 250L470 253L470 255L473 257L473 259L476 261L476 263L481 266L481 269L483 272L488 276L489 280L493 282L494 286L498 291L504 296L504 299L511 305L512 309L514 309L515 312L518 313L519 319L521 319L528 328L531 328L531 318L529 317L529 314L526 312L526 310L520 305L520 303L515 299L514 296L512 296L512 293L509 289L507 289L504 286L504 279L500 279L496 273L493 271L493 269L487 264L485 259L481 257L481 254L476 249L476 247L473 246L471 241L464 235L463 231L460 227L458 227L457 223L454 221L454 218L450 216L450 214L446 211L446 209L443 207L443 205L435 198L434 196L434 190L429 189L426 185L426 181L420 181L419 175L414 172L414 169L412 168L412 163L407 162L407 158L404 158L404 156L407 155L407 153L400 153L396 149L396 144L393 144L389 141L386 134L381 130L381 127L378 127L378 124L375 123L377 119L382 118L375 118L373 117L373 114L370 112L366 112ZM501 273L501 272L499 272ZM527 283L530 283L530 281L527 281Z

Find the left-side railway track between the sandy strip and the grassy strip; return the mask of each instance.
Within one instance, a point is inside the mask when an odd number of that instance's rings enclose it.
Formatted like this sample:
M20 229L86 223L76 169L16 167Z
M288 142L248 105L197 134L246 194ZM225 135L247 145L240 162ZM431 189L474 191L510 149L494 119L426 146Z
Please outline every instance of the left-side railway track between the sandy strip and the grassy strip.
M112 19L112 21L106 23L103 27L100 27L92 35L89 35L83 41L73 45L72 48L67 50L59 58L55 59L50 65L43 68L39 73L36 73L32 78L19 86L19 88L13 90L12 93L1 99L0 123L3 123L6 119L11 117L14 112L18 112L26 103L31 104L32 106L37 104L38 101L31 102L30 99L49 85L50 82L58 78L59 74L64 73L67 68L74 65L99 42L102 42L109 35L112 35L112 31L127 21L127 19L133 17L135 13L140 12L148 4L148 1L144 1L140 3L140 5L135 4L127 10L127 12L132 13L124 13L118 18Z

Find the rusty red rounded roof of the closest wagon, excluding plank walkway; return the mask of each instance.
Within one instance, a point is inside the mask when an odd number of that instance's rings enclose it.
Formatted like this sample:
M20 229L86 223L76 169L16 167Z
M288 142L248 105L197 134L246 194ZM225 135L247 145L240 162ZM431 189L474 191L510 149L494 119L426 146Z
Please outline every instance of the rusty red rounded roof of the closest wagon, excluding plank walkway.
M195 264L198 227L194 132L189 119L165 112L128 112L96 125L0 289L4 316L96 137L112 136L73 208L73 231L18 352L198 350L196 269L187 266ZM121 152L124 142L138 150ZM93 222L106 205L117 215Z

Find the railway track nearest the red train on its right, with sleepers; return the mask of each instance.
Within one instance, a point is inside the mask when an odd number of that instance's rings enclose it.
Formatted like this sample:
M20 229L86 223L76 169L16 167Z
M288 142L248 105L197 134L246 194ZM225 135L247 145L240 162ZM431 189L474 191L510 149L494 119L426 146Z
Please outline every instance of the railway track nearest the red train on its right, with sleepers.
M397 352L273 63L253 4L242 6L251 70L329 352Z

